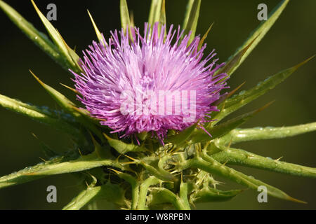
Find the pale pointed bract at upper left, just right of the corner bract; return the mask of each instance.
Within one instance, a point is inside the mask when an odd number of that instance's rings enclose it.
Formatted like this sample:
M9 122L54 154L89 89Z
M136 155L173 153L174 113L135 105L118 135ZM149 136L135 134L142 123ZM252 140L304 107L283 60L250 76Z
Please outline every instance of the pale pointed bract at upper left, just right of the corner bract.
M49 36L51 36L53 43L55 43L55 45L58 47L60 55L64 57L65 63L69 64L68 68L72 68L75 71L81 71L81 69L77 66L77 61L75 61L76 58L73 57L74 52L70 53L70 48L67 46L67 44L65 44L65 41L62 39L58 31L53 27L53 25L51 25L51 22L47 20L45 15L41 13L34 1L31 1L35 10L37 11L37 14L39 15L39 18L41 19L41 22L43 22Z

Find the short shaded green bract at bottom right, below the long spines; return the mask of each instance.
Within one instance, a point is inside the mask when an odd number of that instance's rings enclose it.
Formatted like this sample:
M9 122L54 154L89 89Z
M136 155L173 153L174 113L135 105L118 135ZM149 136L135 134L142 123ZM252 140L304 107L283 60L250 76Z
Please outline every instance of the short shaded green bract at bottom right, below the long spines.
M190 195L192 203L200 202L225 202L232 200L233 197L242 193L243 190L217 190L214 188L203 188L196 190Z

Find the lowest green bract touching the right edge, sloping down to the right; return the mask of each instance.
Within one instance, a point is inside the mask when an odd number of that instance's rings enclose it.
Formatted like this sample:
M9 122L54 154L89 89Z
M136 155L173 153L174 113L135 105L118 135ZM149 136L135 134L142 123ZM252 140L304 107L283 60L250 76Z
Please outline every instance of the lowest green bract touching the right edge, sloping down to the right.
M241 149L225 148L223 151L211 155L211 157L220 163L227 162L232 165L265 169L294 176L316 178L316 168L272 160L271 158L265 158L261 155L249 153Z

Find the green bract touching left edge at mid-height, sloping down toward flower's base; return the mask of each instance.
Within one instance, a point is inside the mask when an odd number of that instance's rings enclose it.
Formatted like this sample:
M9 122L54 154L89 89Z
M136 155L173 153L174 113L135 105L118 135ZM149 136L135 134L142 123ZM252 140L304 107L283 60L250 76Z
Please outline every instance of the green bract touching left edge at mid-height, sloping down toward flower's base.
M81 134L76 127L70 125L69 123L66 123L64 120L61 120L60 118L53 117L51 113L48 113L48 111L41 110L37 106L31 106L29 104L22 103L17 99L11 99L1 94L0 106L3 106L6 109L32 118L33 120L37 120L40 123L50 125L51 127L61 130L62 132L71 134L76 138L81 137Z

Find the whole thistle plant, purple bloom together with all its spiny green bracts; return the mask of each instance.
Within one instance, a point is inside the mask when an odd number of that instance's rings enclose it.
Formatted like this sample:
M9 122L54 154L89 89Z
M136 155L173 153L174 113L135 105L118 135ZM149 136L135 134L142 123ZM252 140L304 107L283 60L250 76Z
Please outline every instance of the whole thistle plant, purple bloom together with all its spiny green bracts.
M233 148L242 141L279 139L316 130L316 123L292 127L240 129L269 104L224 120L273 89L309 59L266 78L249 90L229 88L229 77L254 50L289 3L284 0L227 62L206 52L206 36L195 34L201 0L189 0L183 25L166 26L164 0L152 0L148 21L134 25L126 0L120 1L121 27L100 33L79 56L32 0L49 37L0 1L0 8L39 48L70 73L65 95L32 75L60 110L25 104L0 94L0 105L68 134L72 149L62 155L43 144L44 162L0 178L0 188L55 174L72 173L81 193L64 209L107 200L120 209L191 209L222 202L244 188L265 188L271 197L302 202L230 165L316 177L316 168L272 160ZM220 176L244 186L218 190Z

